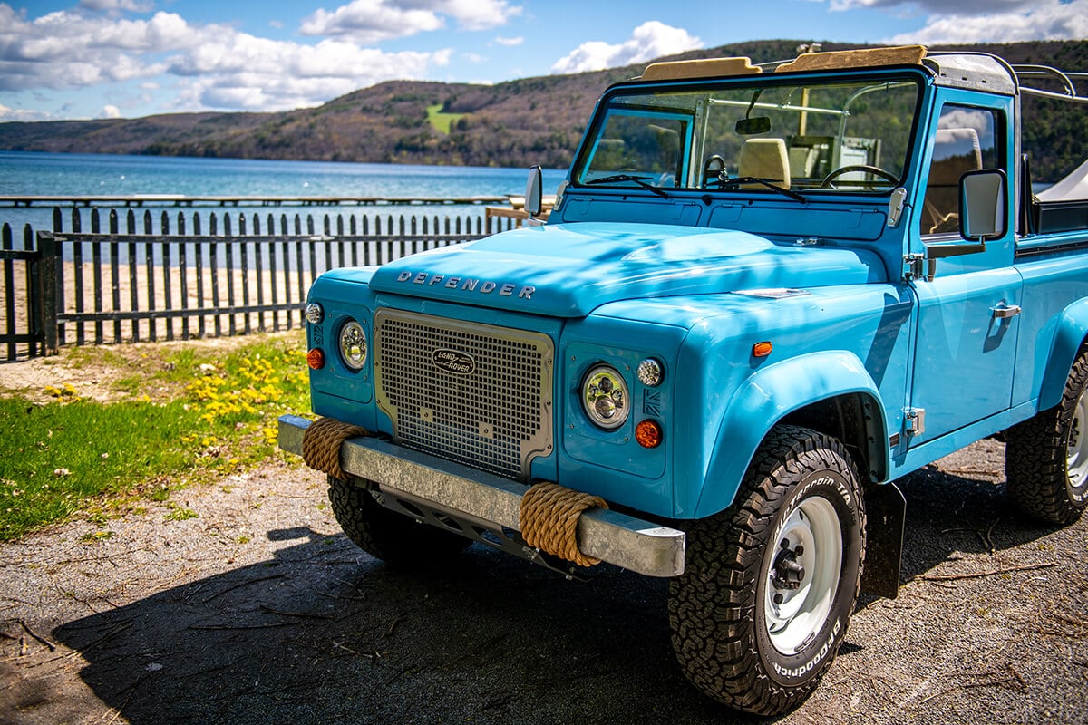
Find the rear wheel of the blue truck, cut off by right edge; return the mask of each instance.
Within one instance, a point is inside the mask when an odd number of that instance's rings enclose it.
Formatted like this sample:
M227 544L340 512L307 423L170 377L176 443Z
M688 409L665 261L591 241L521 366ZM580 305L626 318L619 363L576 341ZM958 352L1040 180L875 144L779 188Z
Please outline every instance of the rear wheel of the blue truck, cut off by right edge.
M1024 513L1072 524L1088 504L1088 351L1081 349L1058 405L1005 432L1007 495Z

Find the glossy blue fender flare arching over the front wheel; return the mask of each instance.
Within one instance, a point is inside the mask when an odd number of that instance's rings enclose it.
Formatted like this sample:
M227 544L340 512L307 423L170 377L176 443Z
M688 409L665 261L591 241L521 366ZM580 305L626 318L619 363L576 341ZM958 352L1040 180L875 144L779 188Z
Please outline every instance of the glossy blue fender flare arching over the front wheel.
M813 374L818 371L818 374ZM710 516L732 505L741 479L775 425L788 414L844 395L870 399L868 425L888 457L888 423L876 383L852 352L814 352L759 368L737 389L718 426L717 446L710 455L695 517ZM887 471L887 461L871 467ZM863 478L866 472L858 472ZM864 479L863 479L864 483Z

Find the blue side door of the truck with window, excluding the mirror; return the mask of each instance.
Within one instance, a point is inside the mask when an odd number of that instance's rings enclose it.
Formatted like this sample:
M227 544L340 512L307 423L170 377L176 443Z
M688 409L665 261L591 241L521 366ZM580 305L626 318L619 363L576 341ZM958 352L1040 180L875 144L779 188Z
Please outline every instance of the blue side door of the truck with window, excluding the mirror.
M989 108L966 101L965 95L949 92L931 129L925 197L913 215L912 249L918 252L924 246L965 243L960 235L964 173L1001 168L1013 177L1012 99L994 99ZM1001 238L986 241L984 251L942 258L932 280L925 270L912 282L918 329L907 416L924 421L924 430L910 436L912 448L1011 404L1023 287L1013 267L1012 220L1013 210L1006 209Z

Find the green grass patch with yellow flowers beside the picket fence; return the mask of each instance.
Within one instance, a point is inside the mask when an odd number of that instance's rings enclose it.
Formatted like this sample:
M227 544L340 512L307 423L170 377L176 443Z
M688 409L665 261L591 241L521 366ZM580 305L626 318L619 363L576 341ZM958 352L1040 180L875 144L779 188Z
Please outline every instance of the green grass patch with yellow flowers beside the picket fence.
M114 402L47 386L52 402L0 397L0 540L76 512L101 526L134 501L165 501L198 478L279 455L276 417L309 410L305 352L265 339L233 352L181 348L159 355L83 349L67 364L115 366ZM191 517L173 509L173 521Z

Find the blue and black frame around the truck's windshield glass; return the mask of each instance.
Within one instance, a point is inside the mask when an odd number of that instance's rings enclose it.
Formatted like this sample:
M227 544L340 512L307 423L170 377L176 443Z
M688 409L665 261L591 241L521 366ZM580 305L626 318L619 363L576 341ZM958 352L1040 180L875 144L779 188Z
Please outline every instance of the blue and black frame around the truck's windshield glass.
M918 125L922 118L922 112L925 105L926 90L930 80L924 68L917 66L894 66L888 68L865 68L865 70L851 70L849 72L799 72L799 73L764 73L764 74L752 74L744 76L728 76L728 77L715 77L715 78L698 78L698 79L683 79L683 80L631 80L621 84L616 84L605 91L601 101L597 103L596 110L594 112L593 120L583 137L582 143L579 146L578 152L576 153L574 161L571 164L569 172L570 186L574 189L619 189L625 193L635 192L639 195L648 193L644 192L639 188L641 184L635 183L616 183L616 184L588 184L593 176L588 176L588 172L591 168L591 164L594 160L594 154L597 152L601 141L604 137L604 125L609 122L615 114L621 112L634 113L638 109L646 110L647 113L656 113L658 111L666 111L667 115L676 114L688 114L693 117L692 132L694 136L689 136L687 138L688 146L685 147L685 154L681 154L684 158L678 167L681 168L681 173L677 174L675 183L670 183L671 179L662 177L652 179L650 183L655 186L659 186L662 189L668 191L669 196L675 195L696 195L704 197L705 195L735 195L738 190L763 195L774 195L775 189L767 188L767 184L729 184L729 183L718 183L714 186L706 185L706 170L705 164L709 161L709 155L707 154L708 143L705 138L698 138L701 133L705 133L707 125L706 121L701 121L701 114L706 113L702 104L709 105L712 103L712 97L715 93L729 92L737 97L739 93L747 92L750 96L750 101L743 103L746 109L745 118L752 114L753 109L768 109L777 110L782 112L795 112L801 115L805 113L809 114L825 114L825 115L836 115L841 117L842 124L839 129L838 136L834 138L836 142L842 141L842 139L851 140L876 140L880 142L880 139L853 139L846 136L843 130L845 125L849 123L850 117L850 104L854 103L858 99L863 99L867 93L876 90L890 90L899 87L910 87L915 88L915 93L913 95L913 114L910 118L910 127L903 132L903 134L898 140L902 142L902 164L895 171L899 172L899 176L895 183L890 183L887 179L879 178L878 175L867 173L865 175L865 180L861 179L849 179L843 183L841 188L834 186L836 179L830 179L830 186L824 187L819 184L814 184L817 177L799 177L803 182L800 186L793 186L793 191L800 191L806 197L812 193L813 199L824 199L830 198L838 195L850 195L850 196L864 196L864 197L876 197L886 198L892 190L897 187L901 187L906 183L907 177L911 175L914 159L916 153L918 153ZM832 108L819 108L815 105L805 105L804 103L796 103L792 105L786 105L780 103L769 103L759 102L759 95L768 89L815 89L820 87L830 86L856 86L854 92L850 96L848 101L843 104L842 109ZM758 92L756 92L758 91ZM703 95L704 99L697 101L691 105L691 111L689 112L683 104L679 102L670 103L667 99L669 93L678 93L684 96ZM658 105L650 105L645 102L639 102L638 97L650 97L654 95L662 95L663 103ZM754 98L752 96L754 95ZM805 93L807 98L807 92ZM617 102L618 99L631 98L631 102L622 103ZM904 96L903 101L911 100L910 93ZM713 103L722 103L724 105L740 105L739 100L733 99L717 99ZM902 115L902 120L906 121L906 115ZM904 124L905 127L905 124ZM753 134L755 135L755 134ZM737 134L738 137L743 139L743 135ZM758 137L758 136L756 136ZM802 135L798 134L795 138L801 138ZM824 137L820 137L824 138ZM833 152L832 152L833 155ZM841 151L840 151L841 155ZM705 159L705 161L704 161ZM895 157L897 163L900 161L900 157ZM696 167L697 164L697 167ZM842 164L838 168L831 168L831 171L838 171L845 165ZM598 170L599 172L599 170ZM618 172L610 172L618 173ZM626 170L623 173L629 175L639 175L639 170ZM698 176L696 176L698 173ZM735 172L734 172L735 174ZM603 176L604 173L596 173L596 176ZM842 174L845 176L846 174ZM890 174L895 176L894 174ZM855 173L854 176L857 176ZM717 180L717 179L715 179ZM761 179L775 182L775 179ZM826 183L829 179L823 178L821 182ZM664 184L662 184L664 182ZM722 179L725 182L725 178ZM789 183L782 184L779 182L779 186L790 187ZM779 190L780 191L780 190Z

